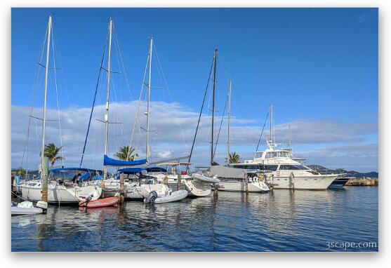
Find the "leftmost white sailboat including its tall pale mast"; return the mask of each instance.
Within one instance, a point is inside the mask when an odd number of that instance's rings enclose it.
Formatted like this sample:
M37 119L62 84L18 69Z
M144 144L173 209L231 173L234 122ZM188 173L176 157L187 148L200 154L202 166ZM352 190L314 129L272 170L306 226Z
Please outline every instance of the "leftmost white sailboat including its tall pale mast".
M52 32L52 16L49 16L48 29L47 29L47 41L46 41L46 72L45 72L45 88L44 88L44 115L42 119L42 147L41 147L41 169L44 167L44 149L46 138L46 100L48 91L48 69L49 69L49 55L51 48L51 32ZM41 175L42 172L41 172ZM51 179L51 173L49 174ZM22 191L22 199L28 201L41 201L42 191L44 188L43 177L39 180L25 181L20 185ZM85 185L79 187L79 185L64 185L58 180L50 180L47 186L47 202L48 203L78 203L81 200L91 196L93 200L98 199L102 193L102 189L95 185ZM27 204L26 204L27 205ZM29 205L27 205L29 206Z

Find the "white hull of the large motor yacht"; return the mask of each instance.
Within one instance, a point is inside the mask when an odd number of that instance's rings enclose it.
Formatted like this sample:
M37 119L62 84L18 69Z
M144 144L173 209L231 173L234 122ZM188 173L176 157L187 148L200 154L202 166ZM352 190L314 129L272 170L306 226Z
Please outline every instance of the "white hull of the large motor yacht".
M337 177L338 175L312 175L292 178L276 176L267 179L267 182L273 185L273 189L325 190Z

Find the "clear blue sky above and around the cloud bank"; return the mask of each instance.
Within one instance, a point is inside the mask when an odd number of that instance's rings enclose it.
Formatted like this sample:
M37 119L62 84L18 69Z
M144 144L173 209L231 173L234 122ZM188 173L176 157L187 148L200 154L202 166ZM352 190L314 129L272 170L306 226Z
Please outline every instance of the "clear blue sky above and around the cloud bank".
M232 114L258 128L270 102L274 105L276 128L300 120L320 122L315 124L319 128L329 126L322 122L333 122L330 131L340 124L347 126L345 134L349 135L352 124L356 132L352 131L350 140L330 142L325 138L324 142L322 139L300 142L300 137L296 137L294 149L308 154L310 163L316 162L316 156L309 152L317 152L319 148L370 145L371 150L376 147L376 152L365 160L370 164L364 169L378 168L376 8L13 8L13 107L29 107L32 103L36 62L50 13L54 14L56 53L61 60L58 71L63 79L61 109L91 107L107 21L111 17L126 62L133 100L138 98L143 79L147 36L154 36L173 101L185 111L195 113L203 98L213 49L218 48L220 109L225 101L227 79L232 78ZM161 81L155 78L152 83L160 85ZM131 100L127 91L119 89L117 93L117 101ZM155 93L152 100L161 98L168 100L162 93ZM37 97L33 103L41 106L41 98ZM48 104L54 109L55 98L49 98ZM366 131L368 125L371 130ZM312 130L307 129L308 133ZM12 153L18 154L15 142ZM251 152L253 147L238 145L237 149ZM354 159L341 163L341 159L333 161L327 156L317 161L331 167L363 166Z

